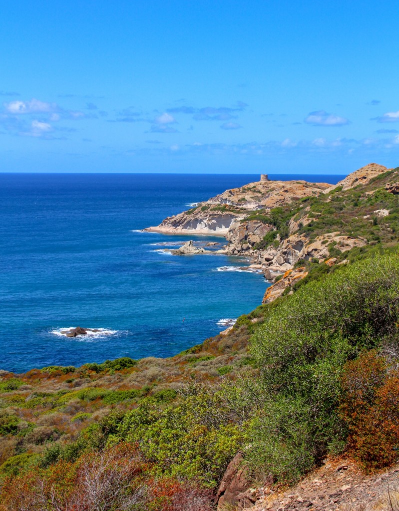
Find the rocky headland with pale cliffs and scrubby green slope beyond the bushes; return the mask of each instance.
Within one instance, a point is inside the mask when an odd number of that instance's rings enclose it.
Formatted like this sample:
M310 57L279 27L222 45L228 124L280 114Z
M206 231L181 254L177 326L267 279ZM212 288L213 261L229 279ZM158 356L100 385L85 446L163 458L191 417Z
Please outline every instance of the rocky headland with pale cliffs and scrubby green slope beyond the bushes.
M398 193L398 178L397 169L372 163L336 185L262 180L227 190L146 230L224 236L224 253L249 256L274 282L300 262L321 264L381 236L388 242L393 208L387 196L393 199ZM339 262L344 261L340 255ZM264 303L306 274L294 273L268 291Z

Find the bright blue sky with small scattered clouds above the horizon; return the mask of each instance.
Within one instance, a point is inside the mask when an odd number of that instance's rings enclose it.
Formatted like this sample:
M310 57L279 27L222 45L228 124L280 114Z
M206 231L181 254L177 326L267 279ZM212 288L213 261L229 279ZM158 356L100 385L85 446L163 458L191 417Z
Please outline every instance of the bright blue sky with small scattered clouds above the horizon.
M2 2L3 172L399 165L397 3Z

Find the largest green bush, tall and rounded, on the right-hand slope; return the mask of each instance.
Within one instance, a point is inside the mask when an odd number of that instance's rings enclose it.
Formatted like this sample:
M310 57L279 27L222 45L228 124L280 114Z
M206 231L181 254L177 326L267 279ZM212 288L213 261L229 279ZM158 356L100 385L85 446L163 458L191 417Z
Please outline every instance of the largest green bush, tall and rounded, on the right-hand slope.
M290 403L301 403L298 428L310 428L312 450L306 466L328 451L339 450L346 431L337 413L342 367L362 350L395 336L398 320L396 254L367 258L326 275L323 280L309 282L272 309L251 341L251 352L260 370L259 398L267 402L263 429L259 416L252 430L250 443L254 452L268 441L264 432L273 431L272 444L280 446L275 453L275 466L281 463L284 467L285 460L291 459L297 430L270 426L268 412L273 408L276 417L284 416ZM303 442L300 440L299 444L305 445ZM298 462L290 461L286 476L285 469L276 469L276 477L291 478L302 473L299 458L295 457Z

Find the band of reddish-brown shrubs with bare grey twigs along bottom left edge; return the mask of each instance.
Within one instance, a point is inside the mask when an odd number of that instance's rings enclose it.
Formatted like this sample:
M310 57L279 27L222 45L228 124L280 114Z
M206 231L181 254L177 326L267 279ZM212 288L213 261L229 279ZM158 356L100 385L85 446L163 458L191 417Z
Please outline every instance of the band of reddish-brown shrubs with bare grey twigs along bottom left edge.
M149 478L138 446L121 443L7 477L0 487L0 511L211 511L212 495L188 482ZM141 507L140 507L141 506ZM136 507L135 507L136 508Z

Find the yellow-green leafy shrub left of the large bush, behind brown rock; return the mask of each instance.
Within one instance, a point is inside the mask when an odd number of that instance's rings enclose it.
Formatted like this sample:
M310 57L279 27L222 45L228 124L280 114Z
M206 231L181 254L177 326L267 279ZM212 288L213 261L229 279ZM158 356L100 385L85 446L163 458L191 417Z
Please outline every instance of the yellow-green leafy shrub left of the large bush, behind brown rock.
M214 487L242 444L243 434L229 417L224 400L205 391L165 408L146 399L125 414L117 437L138 442L145 457L156 463L156 474Z

